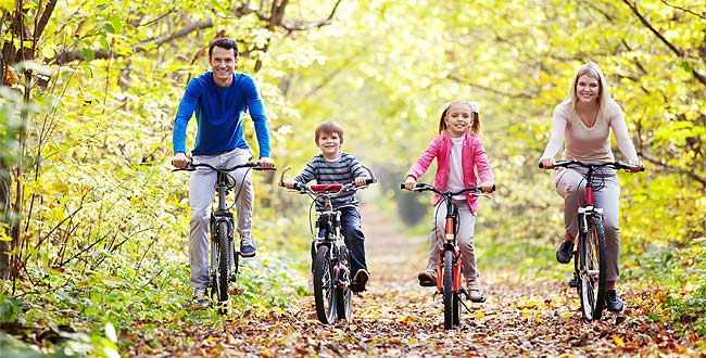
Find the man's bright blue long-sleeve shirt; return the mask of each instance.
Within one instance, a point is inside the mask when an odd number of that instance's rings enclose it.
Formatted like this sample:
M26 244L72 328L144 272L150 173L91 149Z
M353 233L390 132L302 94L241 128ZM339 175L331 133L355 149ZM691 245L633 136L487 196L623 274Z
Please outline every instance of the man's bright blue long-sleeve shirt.
M243 133L245 111L250 111L255 124L260 157L269 156L267 116L252 77L236 73L226 88L216 85L213 72L191 79L174 119L174 153L186 153L187 125L194 112L198 130L192 155L218 154L236 148L250 150Z

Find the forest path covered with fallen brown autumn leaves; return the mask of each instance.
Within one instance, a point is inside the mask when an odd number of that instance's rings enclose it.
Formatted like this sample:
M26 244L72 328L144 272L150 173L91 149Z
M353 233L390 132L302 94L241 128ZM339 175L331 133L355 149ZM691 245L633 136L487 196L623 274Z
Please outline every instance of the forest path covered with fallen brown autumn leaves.
M367 214L367 215L366 215ZM241 312L222 325L184 323L157 328L150 345L133 341L133 356L705 356L698 337L677 336L652 320L663 293L626 289L627 307L601 321L580 319L576 292L566 282L518 279L512 270L483 271L489 299L470 304L462 328L443 329L442 303L420 287L425 238L404 238L373 213L364 214L368 291L353 298L349 322L324 325L311 296L283 311ZM174 325L171 325L174 327ZM160 342L155 346L154 342Z

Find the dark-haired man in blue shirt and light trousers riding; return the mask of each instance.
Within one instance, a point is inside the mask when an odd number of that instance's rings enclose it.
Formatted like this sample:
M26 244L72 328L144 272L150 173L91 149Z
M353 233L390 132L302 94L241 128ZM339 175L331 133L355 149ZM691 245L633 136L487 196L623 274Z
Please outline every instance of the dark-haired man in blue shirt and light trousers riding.
M252 77L236 73L238 44L222 38L209 48L211 72L193 78L179 103L174 120L174 158L177 168L189 163L186 155L186 131L189 119L196 112L197 139L191 154L194 163L206 163L214 167L232 167L252 158L250 146L243 135L245 111L255 125L260 159L263 167L273 167L269 158L269 133L267 117L260 92ZM238 233L240 234L240 255L255 256L255 242L252 238L252 208L254 191L250 170L235 170L231 175L242 186L236 200L238 213ZM189 264L191 286L194 289L194 303L201 307L209 304L209 220L215 194L216 174L199 168L189 182Z

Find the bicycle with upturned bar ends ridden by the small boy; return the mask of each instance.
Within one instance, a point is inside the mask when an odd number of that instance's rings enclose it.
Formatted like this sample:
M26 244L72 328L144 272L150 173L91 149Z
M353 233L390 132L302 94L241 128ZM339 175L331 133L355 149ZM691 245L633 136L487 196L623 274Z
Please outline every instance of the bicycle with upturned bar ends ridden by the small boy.
M324 324L333 324L337 319L350 320L352 316L352 294L351 290L351 263L345 240L341 231L341 212L336 209L331 203L331 197L340 193L367 188L367 186L377 182L375 174L367 166L363 168L370 175L365 180L364 187L356 187L355 181L348 184L327 183L327 184L301 184L294 183L292 191L300 194L306 194L312 199L312 206L317 202L323 205L316 206L316 225L311 227L312 231L312 272L314 279L314 303L316 306L316 317ZM285 174L289 170L285 168L279 179L279 186L285 187ZM314 234L316 229L316 234Z

